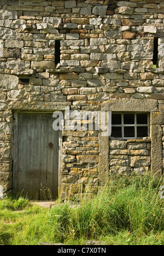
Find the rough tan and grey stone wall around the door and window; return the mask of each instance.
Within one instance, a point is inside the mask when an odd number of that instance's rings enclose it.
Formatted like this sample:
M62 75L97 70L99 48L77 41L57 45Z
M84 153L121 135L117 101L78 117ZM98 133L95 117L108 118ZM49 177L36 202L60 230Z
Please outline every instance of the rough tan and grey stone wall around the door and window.
M109 173L109 166L110 173L147 172L150 152L151 168L161 172L163 24L163 0L0 1L0 181L4 190L12 188L15 110L52 111L69 106L101 111L106 101L118 101L120 106L119 102L131 104L131 100L139 101L139 112L150 112L149 107L142 108L143 102L156 106L151 109L157 114L152 115L150 126L158 136L150 136L151 149L150 141L126 141L124 149L110 142L114 148L110 148L109 160L109 149L102 155L98 131L63 132L63 198L78 196L86 185L90 193L97 191L103 184L100 172ZM61 43L57 65L56 40ZM108 110L112 110L110 104ZM124 110L122 104L120 111Z

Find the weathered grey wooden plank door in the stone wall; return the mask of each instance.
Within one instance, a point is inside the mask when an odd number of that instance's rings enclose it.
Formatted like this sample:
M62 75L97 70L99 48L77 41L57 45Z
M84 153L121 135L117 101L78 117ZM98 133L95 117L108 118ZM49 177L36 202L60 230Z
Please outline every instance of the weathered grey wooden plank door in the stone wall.
M13 189L34 200L58 196L59 132L52 114L14 114Z

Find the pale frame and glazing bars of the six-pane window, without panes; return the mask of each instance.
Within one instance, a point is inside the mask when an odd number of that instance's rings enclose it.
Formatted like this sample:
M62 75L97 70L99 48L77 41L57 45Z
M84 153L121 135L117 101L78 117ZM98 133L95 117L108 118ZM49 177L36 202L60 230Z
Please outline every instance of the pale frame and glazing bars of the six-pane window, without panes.
M134 114L134 124L124 124L124 114ZM112 127L121 127L122 129L122 136L121 137L115 137L115 139L123 139L123 140L127 140L127 139L143 139L143 137L137 137L137 127L148 127L148 136L145 137L149 137L150 135L150 115L148 112L142 112L142 113L138 113L138 112L112 112L112 114L121 114L121 124L120 125L113 125ZM147 124L137 124L137 114L147 114ZM134 127L134 137L125 137L125 133L124 133L124 127Z

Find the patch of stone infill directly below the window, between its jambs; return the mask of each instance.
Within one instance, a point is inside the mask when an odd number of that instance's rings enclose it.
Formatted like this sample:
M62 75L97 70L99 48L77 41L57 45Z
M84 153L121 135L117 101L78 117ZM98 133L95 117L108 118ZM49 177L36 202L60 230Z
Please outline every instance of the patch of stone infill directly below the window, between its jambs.
M111 174L130 175L150 172L150 140L128 139L109 142Z

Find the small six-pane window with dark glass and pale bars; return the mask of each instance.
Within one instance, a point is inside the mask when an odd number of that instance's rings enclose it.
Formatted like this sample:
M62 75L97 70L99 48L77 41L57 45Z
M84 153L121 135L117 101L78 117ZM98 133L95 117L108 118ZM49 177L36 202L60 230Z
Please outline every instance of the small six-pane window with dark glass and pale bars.
M113 113L112 137L137 139L149 136L147 113Z

